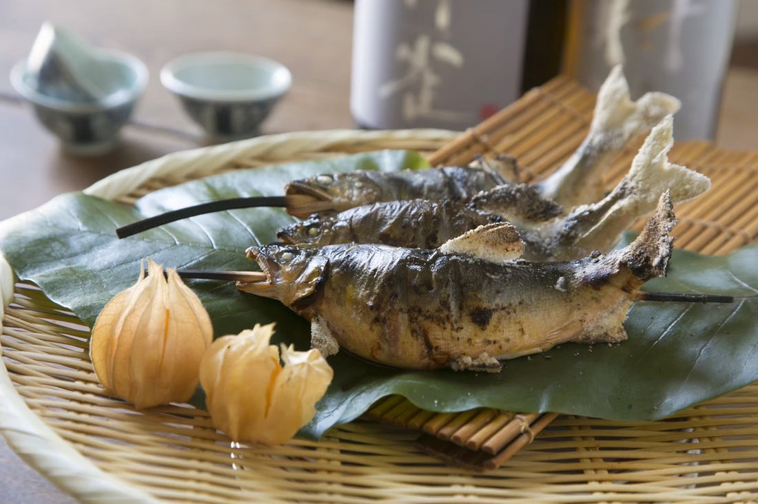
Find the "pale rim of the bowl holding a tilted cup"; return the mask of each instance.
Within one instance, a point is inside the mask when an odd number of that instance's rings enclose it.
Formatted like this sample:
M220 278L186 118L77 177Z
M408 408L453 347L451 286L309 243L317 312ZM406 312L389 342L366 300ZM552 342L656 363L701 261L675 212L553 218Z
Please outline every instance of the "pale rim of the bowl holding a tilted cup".
M149 70L146 64L128 52L117 51L114 49L99 49L96 57L103 60L108 59L110 61L118 61L133 70L135 78L132 86L127 89L119 89L116 92L111 92L111 94L99 102L71 102L56 98L55 96L45 95L29 86L26 80L24 80L24 77L26 77L27 74L26 58L17 61L17 63L11 67L11 74L9 76L11 86L13 86L16 92L24 99L27 99L34 105L42 105L43 107L52 108L58 111L79 114L103 111L108 108L126 105L129 102L136 102L136 99L143 94L147 87Z

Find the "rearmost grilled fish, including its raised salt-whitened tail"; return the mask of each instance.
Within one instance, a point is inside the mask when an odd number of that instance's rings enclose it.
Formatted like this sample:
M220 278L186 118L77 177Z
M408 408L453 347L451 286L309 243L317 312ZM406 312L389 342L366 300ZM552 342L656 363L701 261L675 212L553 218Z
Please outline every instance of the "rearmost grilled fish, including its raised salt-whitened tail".
M678 99L662 92L648 92L632 102L622 67L615 67L600 88L584 142L562 167L535 185L537 191L567 211L597 202L603 196L602 178L612 159L634 136L650 130L680 105ZM299 196L287 211L306 218L313 213L399 199L466 201L480 191L510 183L512 169L512 163L495 162L481 167L322 174L285 186L287 196Z

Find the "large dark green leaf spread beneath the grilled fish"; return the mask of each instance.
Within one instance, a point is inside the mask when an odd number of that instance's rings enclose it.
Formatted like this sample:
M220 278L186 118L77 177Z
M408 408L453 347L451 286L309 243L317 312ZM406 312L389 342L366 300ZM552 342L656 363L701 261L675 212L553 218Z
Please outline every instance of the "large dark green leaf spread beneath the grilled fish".
M293 219L280 209L230 211L124 240L115 238L115 227L209 199L281 193L287 180L311 174L420 165L417 155L383 152L327 166L258 168L161 189L136 208L69 194L0 225L0 247L19 277L92 324L105 302L136 280L141 258L149 255L181 268L252 269L244 250L271 241L275 230ZM500 374L402 371L340 352L329 359L334 383L302 434L318 436L388 394L402 394L434 411L489 406L623 420L666 417L758 380L758 302L749 297L758 293L756 265L755 245L721 257L675 251L669 277L653 280L648 290L748 297L731 304L638 302L626 322L628 341L563 345L509 361ZM277 321L278 340L301 349L308 345L308 325L278 302L238 293L228 283L190 285L208 308L217 335Z

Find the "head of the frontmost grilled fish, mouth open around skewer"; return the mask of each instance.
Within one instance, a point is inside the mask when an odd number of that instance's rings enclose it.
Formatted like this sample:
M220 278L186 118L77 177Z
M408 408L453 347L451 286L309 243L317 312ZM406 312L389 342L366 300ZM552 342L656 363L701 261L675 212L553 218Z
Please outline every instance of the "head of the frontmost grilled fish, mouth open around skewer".
M268 245L250 247L246 255L258 263L265 279L238 282L237 288L257 296L279 299L298 313L315 301L329 264L329 260L321 255L321 249Z

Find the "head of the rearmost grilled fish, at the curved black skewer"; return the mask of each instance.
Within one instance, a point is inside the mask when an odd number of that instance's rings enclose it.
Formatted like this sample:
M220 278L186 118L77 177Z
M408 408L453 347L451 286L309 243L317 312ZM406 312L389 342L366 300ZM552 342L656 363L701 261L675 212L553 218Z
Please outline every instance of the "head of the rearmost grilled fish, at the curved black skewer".
M381 188L368 173L321 174L293 180L284 191L297 201L287 205L287 211L295 217L306 218L318 212L343 211L374 202L381 195Z

